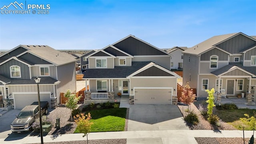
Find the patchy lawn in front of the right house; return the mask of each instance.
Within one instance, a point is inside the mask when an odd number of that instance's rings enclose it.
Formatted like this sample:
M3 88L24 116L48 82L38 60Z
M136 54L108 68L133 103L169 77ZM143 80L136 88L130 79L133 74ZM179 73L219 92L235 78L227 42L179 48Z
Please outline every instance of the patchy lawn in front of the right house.
M249 114L249 116L254 116L251 109L236 109L236 110L217 110L214 114L217 114L220 119L224 122L228 122L238 130L243 130L243 124L240 122L239 118L245 118L244 114ZM249 130L247 127L244 127L245 130Z

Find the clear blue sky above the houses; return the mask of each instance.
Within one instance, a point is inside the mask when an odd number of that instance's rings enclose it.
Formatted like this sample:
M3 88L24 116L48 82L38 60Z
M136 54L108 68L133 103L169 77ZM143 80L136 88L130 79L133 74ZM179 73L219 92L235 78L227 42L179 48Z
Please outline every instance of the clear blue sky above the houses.
M256 0L16 0L49 14L0 14L0 50L20 44L101 49L132 34L158 48L192 47L212 36L256 36ZM15 0L0 0L0 7Z

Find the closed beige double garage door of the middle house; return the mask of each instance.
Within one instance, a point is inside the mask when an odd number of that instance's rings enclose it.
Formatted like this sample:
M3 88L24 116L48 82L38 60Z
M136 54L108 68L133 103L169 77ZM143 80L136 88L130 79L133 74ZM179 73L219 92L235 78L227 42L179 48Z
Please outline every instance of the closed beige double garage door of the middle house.
M171 89L135 89L135 104L172 104Z

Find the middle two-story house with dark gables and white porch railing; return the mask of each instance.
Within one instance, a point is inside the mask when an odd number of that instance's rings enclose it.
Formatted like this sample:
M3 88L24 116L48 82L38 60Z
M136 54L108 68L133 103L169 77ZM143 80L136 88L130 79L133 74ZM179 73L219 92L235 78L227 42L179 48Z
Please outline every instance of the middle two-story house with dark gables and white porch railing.
M130 104L177 102L180 76L170 71L171 56L148 42L129 35L85 58L87 104L95 99L114 100L118 92L130 96Z

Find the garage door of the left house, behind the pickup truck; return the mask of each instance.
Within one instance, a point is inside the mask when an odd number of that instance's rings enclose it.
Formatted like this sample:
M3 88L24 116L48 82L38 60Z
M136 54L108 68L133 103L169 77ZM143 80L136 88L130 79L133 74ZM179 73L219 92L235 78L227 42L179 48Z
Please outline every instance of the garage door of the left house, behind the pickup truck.
M40 101L48 101L50 104L50 94L40 94ZM38 102L37 94L15 94L14 95L15 108L22 109L25 106Z

